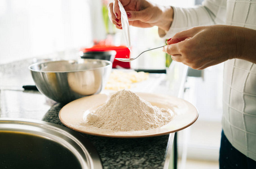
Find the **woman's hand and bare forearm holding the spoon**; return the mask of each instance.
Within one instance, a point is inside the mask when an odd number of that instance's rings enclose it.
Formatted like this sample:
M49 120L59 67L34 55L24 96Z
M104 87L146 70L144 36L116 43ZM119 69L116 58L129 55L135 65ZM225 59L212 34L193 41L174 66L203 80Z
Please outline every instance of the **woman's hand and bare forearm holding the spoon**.
M256 63L255 35L255 30L237 26L199 26L175 34L164 52L198 70L233 58Z

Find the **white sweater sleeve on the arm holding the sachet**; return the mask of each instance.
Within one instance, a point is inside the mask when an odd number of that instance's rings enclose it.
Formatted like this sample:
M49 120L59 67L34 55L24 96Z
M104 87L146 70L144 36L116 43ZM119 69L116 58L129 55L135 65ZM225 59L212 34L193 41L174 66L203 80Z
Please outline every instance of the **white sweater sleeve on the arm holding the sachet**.
M160 37L169 39L177 32L214 24L224 24L226 18L226 0L205 0L202 5L191 8L173 7L173 23L168 31L158 29Z

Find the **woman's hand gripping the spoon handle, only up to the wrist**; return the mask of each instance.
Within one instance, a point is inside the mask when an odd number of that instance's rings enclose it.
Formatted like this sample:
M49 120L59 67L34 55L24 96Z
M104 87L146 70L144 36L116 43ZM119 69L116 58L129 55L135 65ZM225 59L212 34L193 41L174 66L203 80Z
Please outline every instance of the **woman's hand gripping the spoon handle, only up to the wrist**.
M167 41L164 52L193 69L205 69L236 57L235 26L198 26L179 32Z

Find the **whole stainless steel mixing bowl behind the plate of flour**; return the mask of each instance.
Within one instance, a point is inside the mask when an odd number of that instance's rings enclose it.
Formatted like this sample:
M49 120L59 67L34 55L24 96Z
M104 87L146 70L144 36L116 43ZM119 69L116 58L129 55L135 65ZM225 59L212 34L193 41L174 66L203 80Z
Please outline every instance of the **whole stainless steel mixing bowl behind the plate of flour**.
M99 94L112 70L111 61L98 59L60 60L29 66L38 90L59 103Z

